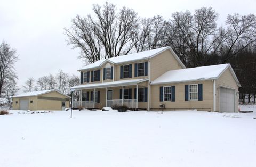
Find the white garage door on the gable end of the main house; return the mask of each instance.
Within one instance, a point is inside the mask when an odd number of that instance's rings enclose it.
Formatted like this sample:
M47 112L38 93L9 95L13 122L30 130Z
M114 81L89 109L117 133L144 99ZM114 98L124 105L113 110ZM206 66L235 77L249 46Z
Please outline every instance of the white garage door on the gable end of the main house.
M220 87L220 112L235 112L235 93L233 89Z

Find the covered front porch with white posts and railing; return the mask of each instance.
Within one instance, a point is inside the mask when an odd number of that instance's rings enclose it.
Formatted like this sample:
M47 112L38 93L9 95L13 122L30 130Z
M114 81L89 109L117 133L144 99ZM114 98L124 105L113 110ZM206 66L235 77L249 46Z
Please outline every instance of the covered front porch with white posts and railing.
M148 79L85 84L72 88L79 92L79 98L73 98L73 108L101 109L114 105L125 105L131 110L148 108Z

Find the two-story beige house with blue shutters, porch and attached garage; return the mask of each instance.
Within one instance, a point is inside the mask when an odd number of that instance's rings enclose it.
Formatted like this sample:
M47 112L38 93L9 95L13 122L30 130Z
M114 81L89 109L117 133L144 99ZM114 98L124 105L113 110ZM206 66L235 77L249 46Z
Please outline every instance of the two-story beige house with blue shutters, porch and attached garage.
M135 110L238 111L239 81L230 64L186 69L171 47L104 59L85 66L73 107L126 105Z

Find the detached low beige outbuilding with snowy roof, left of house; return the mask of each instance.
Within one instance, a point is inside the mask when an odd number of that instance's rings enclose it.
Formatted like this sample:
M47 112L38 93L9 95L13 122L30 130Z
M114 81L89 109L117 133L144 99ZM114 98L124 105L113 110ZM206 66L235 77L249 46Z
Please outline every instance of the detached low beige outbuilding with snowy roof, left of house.
M64 110L70 99L57 90L27 92L12 98L13 110Z

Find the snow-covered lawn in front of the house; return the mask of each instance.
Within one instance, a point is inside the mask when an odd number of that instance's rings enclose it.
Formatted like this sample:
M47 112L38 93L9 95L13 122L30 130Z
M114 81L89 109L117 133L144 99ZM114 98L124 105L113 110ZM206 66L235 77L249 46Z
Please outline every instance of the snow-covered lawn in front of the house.
M13 112L13 111L10 111ZM256 113L0 115L0 166L255 166Z

